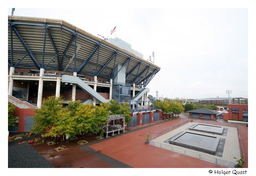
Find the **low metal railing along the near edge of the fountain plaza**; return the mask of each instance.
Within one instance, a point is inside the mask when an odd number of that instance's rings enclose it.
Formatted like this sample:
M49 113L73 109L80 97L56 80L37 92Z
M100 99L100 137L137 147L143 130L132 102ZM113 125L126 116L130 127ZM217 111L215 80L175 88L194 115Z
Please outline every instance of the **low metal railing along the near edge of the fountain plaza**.
M179 154L183 154L185 156L198 158L199 160L206 160L206 161L212 162L216 165L225 166L225 167L228 167L228 168L234 168L235 165L236 165L234 162L231 162L231 161L222 160L222 159L219 159L219 158L215 158L213 156L208 156L208 155L205 155L205 154L192 152L190 150L185 150L183 148L170 146L168 144L162 144L160 142L150 141L150 145L156 146L156 147L159 147L159 148L162 148L162 149L165 149L165 150L170 150L172 152L176 152L176 153L179 153Z

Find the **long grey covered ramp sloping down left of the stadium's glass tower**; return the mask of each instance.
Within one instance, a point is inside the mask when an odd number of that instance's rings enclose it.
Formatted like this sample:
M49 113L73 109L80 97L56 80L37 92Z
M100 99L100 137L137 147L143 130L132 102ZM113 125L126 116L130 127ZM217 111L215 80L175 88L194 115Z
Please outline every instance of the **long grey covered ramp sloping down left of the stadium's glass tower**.
M70 75L62 75L62 82L68 82L72 84L78 85L82 90L87 92L90 96L94 97L96 100L102 103L109 102L103 96L101 96L98 92L96 92L93 88L91 88L88 84L82 81L79 77L70 76Z

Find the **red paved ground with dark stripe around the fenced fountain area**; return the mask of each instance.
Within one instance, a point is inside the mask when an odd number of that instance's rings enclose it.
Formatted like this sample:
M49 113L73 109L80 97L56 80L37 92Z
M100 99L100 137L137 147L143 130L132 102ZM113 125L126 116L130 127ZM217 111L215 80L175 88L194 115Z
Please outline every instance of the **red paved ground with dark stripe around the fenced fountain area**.
M84 145L77 144L80 138L67 140L63 145L68 149L60 152L54 150L56 146L47 144L36 145L33 148L56 168L224 168L144 143L147 134L155 134L185 120L187 119L160 120L157 123L129 128L125 134L121 133L102 140L96 140L94 135L86 136L84 140L89 143ZM197 121L235 128L238 126L246 159L245 167L248 167L248 128L245 125L194 120L194 122ZM240 151L242 153L241 147Z

